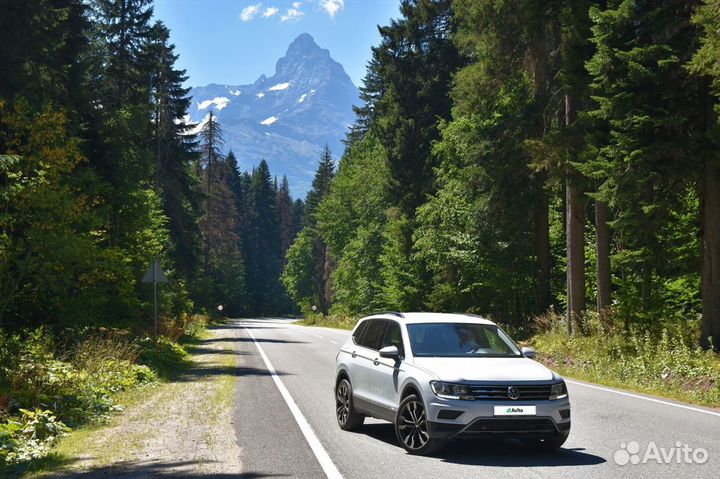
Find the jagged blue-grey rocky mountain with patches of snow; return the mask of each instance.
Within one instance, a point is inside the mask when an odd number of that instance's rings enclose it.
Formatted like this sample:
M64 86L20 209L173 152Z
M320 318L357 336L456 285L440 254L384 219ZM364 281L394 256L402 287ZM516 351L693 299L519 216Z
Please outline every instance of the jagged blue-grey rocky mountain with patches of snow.
M266 159L287 175L293 195L304 196L323 147L335 155L359 103L358 90L330 51L307 33L290 43L275 73L248 85L209 85L192 90L189 120L205 121L210 111L222 125L225 146L242 169Z

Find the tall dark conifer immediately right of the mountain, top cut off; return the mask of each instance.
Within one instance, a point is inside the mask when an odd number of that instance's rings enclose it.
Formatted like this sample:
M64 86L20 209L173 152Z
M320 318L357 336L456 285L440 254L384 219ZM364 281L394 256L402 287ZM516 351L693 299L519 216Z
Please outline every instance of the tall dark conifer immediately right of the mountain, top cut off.
M385 147L395 201L412 217L432 189L430 148L438 118L450 117L452 75L464 60L451 40L450 1L403 0L400 12L380 27L358 112Z

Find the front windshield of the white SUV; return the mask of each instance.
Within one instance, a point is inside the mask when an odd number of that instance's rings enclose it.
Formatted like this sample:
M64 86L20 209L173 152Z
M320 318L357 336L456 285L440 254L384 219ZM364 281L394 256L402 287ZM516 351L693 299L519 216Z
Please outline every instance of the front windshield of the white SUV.
M407 329L414 356L522 357L515 343L492 324L417 323Z

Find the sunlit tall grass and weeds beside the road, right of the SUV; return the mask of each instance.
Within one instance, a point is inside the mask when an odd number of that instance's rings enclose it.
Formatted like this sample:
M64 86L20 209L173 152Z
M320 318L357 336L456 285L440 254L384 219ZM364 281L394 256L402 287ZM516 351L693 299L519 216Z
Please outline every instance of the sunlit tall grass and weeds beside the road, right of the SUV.
M695 346L697 321L631 328L589 315L572 336L560 318L541 318L533 337L549 366L581 379L720 405L720 356Z

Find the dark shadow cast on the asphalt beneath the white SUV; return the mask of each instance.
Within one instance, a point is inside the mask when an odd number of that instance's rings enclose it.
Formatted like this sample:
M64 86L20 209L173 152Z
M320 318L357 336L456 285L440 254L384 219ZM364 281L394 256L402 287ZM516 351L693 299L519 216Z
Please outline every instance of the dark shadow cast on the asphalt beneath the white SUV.
M358 428L357 433L367 434L402 450L392 424L365 424ZM583 451L581 448L561 448L540 452L512 439L463 439L452 441L434 457L454 464L498 467L593 466L607 462L605 458Z

